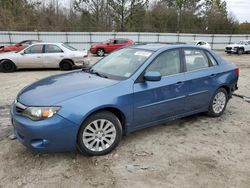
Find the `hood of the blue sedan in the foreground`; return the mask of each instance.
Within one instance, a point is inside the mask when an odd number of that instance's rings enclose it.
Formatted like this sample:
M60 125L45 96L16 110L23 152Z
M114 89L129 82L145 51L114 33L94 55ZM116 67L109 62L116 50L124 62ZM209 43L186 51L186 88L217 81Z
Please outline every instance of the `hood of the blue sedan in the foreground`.
M83 71L74 71L51 76L25 87L18 94L17 100L27 106L51 106L117 82Z

